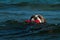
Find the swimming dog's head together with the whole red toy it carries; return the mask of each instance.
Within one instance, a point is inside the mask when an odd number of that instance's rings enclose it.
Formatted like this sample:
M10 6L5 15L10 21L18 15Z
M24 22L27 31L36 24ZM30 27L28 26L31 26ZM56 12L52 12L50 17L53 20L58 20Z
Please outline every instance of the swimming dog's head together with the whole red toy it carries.
M30 20L26 20L27 23L45 23L45 19L41 15L33 15L31 16Z

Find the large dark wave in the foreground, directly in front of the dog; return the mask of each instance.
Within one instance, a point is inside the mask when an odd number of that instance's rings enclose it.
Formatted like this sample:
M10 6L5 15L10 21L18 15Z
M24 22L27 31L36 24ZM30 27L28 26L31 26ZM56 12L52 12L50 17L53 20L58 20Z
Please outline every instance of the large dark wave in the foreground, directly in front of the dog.
M0 37L18 38L29 35L60 33L60 24L35 24L8 20L0 23Z

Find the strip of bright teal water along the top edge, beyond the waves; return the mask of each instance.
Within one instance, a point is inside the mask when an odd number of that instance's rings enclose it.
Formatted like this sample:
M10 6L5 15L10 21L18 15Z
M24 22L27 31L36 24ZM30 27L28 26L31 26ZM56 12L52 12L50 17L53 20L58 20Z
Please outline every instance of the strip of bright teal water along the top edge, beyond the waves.
M1 3L15 4L19 2L30 2L30 3L44 3L44 4L60 4L60 0L0 0Z

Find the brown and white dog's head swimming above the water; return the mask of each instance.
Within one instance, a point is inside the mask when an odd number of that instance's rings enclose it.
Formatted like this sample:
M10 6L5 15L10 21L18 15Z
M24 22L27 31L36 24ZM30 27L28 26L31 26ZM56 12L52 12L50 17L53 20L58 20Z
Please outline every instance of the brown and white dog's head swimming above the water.
M42 15L32 15L30 18L31 22L35 22L35 23L46 23L45 18Z

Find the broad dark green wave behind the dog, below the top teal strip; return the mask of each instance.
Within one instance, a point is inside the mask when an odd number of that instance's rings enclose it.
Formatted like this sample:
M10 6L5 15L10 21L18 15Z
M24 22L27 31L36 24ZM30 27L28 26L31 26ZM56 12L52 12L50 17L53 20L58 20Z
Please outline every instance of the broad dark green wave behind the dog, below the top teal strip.
M29 3L29 2L20 2L16 4L1 4L0 8L7 7L26 7L29 6L32 9L41 9L41 10L60 10L60 4L40 4L40 3Z

